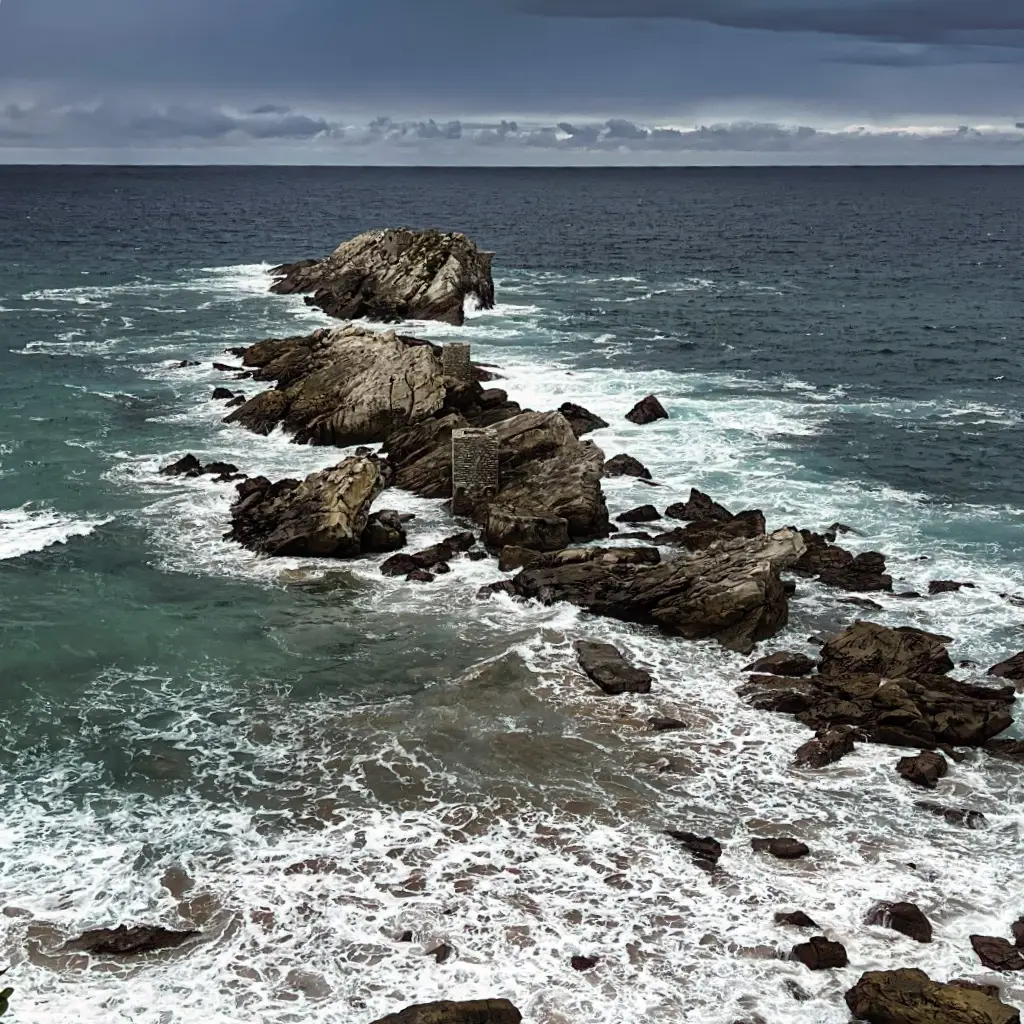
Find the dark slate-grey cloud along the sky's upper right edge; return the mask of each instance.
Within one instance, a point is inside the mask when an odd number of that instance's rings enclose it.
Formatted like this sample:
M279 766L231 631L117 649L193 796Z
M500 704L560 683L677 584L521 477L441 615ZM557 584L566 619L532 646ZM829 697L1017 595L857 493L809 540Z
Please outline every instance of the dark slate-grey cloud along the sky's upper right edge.
M818 32L901 42L973 37L1024 45L1018 0L519 0L523 10L560 17L656 17L732 29ZM1016 34L1008 39L1007 34Z

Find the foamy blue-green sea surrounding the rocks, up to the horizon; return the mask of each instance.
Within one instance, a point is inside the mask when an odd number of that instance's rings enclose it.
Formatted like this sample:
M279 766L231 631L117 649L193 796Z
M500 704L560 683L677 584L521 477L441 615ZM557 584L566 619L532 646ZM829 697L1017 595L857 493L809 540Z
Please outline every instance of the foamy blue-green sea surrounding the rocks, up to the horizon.
M603 416L606 456L665 484L606 480L613 516L697 486L769 528L848 523L897 591L976 584L871 595L873 620L951 636L966 678L1024 647L1022 191L1016 168L0 169L10 1020L369 1024L507 996L530 1024L846 1024L843 992L895 967L1024 1001L968 941L1024 912L1019 766L952 766L937 799L988 827L951 827L894 748L794 768L809 733L744 705L748 659L714 643L478 602L493 561L422 586L380 558L258 559L222 540L230 486L158 473L186 452L270 477L339 461L222 424L213 387L257 386L212 360L327 323L268 294L274 264L462 230L497 254L496 308L404 330L469 340L523 406ZM670 419L627 422L650 392ZM416 515L413 549L455 528L438 502L378 505ZM846 596L801 581L763 649L813 653L864 614ZM581 636L652 692L601 695ZM665 828L720 839L723 871ZM767 863L756 835L812 855ZM935 941L867 927L880 899L919 903ZM779 958L793 909L848 968ZM115 966L60 949L122 923L203 938Z

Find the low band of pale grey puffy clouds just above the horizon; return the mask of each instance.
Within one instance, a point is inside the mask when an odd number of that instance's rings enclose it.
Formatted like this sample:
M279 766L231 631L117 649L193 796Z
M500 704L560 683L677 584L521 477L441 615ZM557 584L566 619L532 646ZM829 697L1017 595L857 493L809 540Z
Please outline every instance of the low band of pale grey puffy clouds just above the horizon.
M473 122L392 120L377 118L364 124L266 103L246 112L173 105L129 109L112 104L47 106L8 104L0 109L0 154L5 150L59 152L126 145L199 147L251 151L261 144L268 157L287 146L289 158L319 162L332 155L342 162L358 151L374 160L390 157L408 161L410 152L425 154L428 162L471 164L489 151L488 161L515 163L524 153L530 162L557 162L566 154L600 163L678 162L709 155L784 156L807 163L884 161L930 162L967 159L1008 162L1024 160L1024 132L1007 127L979 130L962 126L946 131L879 131L853 128L825 131L806 125L732 123L694 128L644 125L621 118L601 122L520 124L515 121ZM540 156L538 156L540 155ZM368 160L368 162L370 162Z

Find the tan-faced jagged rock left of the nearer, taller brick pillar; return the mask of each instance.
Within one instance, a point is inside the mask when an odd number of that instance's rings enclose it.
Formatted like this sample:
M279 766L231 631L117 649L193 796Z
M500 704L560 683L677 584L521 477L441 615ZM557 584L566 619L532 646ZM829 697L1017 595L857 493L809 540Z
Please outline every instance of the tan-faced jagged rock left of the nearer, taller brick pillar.
M384 483L380 462L356 458L301 482L247 480L231 506L227 539L264 555L355 558Z

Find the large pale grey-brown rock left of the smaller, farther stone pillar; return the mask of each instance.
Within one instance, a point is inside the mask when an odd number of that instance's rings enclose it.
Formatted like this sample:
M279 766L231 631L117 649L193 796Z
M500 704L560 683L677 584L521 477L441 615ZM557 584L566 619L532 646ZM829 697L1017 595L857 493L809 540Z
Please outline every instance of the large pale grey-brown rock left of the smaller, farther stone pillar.
M354 325L265 341L245 355L255 377L276 381L228 415L256 433L281 424L299 443L366 444L437 413L447 394L438 351L393 331Z

